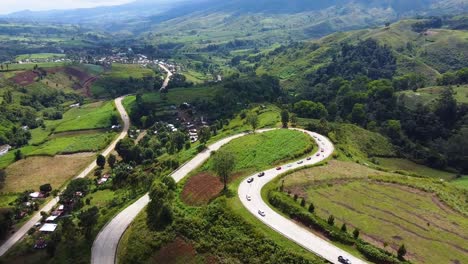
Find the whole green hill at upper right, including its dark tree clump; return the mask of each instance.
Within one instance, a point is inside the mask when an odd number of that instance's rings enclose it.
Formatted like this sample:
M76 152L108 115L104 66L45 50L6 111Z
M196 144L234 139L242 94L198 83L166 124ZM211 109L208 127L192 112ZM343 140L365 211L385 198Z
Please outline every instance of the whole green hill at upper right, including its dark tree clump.
M289 88L317 83L320 81L317 78L326 79L331 70L339 70L336 67L342 68L340 74L344 77L350 77L350 72L360 72L372 79L414 73L425 79L426 84L434 85L441 73L468 67L467 28L466 16L403 20L374 29L336 33L318 41L281 46L269 53L237 60L254 63L258 74L273 74ZM393 56L390 64L379 62L388 57L382 49L375 51L380 54L377 60L375 56L362 57L356 51L347 52L349 45L365 40L385 46ZM366 54L365 50L361 51Z

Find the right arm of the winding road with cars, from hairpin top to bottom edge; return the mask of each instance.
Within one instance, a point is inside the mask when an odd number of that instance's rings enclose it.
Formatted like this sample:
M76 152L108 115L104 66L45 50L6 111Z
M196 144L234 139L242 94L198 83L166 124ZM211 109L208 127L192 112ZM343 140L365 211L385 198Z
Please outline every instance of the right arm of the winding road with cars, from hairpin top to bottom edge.
M351 256L346 251L332 245L328 241L316 236L309 230L297 225L290 219L276 213L263 201L261 196L261 190L263 186L265 186L268 182L276 178L278 175L289 170L294 170L300 167L310 166L319 163L333 154L333 144L326 137L305 130L297 130L305 132L311 137L314 137L317 144L319 145L318 152L311 156L310 160L303 159L302 164L293 162L282 166L281 170L277 170L276 168L267 170L265 171L265 176L263 177L258 177L257 173L252 175L251 177L246 178L239 186L239 199L242 201L242 204L245 206L245 208L247 208L247 210L249 210L250 213L252 213L264 224L281 233L288 239L301 245L305 249L315 253L316 255L319 255L332 263L339 263L339 256L343 256L344 258L349 259L353 264L365 263L364 261ZM321 152L322 149L323 152ZM254 181L248 183L247 180L249 178L253 178ZM249 197L250 201L248 201L247 196ZM259 210L264 212L265 216L261 216L259 214Z

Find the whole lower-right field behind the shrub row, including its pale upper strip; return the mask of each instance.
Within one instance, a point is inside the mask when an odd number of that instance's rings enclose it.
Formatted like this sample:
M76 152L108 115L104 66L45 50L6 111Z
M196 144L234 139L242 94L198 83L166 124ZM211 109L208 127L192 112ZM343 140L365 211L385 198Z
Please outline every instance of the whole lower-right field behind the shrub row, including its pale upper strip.
M361 237L376 246L395 253L404 243L411 261L468 261L468 220L464 215L431 192L374 181L375 176L403 178L356 163L332 160L327 165L286 176L284 185L286 190L313 202L321 218L333 214L335 225L346 223L348 230L359 228Z

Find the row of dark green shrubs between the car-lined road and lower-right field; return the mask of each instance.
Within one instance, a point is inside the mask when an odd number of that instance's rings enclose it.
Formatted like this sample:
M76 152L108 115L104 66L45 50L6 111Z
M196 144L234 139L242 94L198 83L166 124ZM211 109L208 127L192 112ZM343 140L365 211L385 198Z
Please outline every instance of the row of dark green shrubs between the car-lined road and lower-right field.
M356 245L356 248L373 262L383 264L410 263L406 260L400 260L392 253L366 243L359 238L356 239L349 233L341 231L334 225L328 224L326 220L315 214L307 212L288 195L277 191L270 191L268 193L268 201L271 205L279 209L284 214L287 214L290 218L323 233L330 240L346 245Z

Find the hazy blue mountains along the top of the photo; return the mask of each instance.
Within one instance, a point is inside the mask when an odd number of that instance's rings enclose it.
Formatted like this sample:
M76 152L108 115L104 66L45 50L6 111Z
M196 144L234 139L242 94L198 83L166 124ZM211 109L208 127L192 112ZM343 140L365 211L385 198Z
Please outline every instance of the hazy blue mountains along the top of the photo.
M204 18L211 21L214 15L222 17L224 22L229 20L227 26L237 19L245 22L246 16L268 19L281 16L282 20L297 20L301 15L306 15L311 18L310 21L302 21L310 23L307 28L314 30L314 26L317 26L325 34L407 16L452 15L467 11L468 0L138 0L112 7L22 11L0 18L81 24L109 32L140 34L164 32L168 24L175 28L182 25L179 29L190 28L198 32L196 25L206 27L200 24L201 21ZM190 24L192 26L188 26Z

